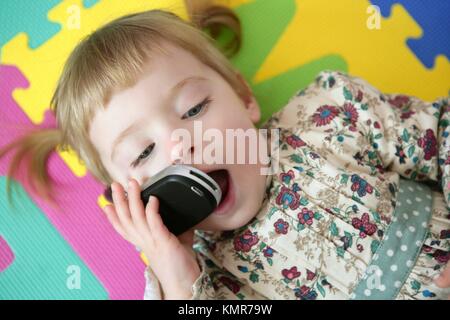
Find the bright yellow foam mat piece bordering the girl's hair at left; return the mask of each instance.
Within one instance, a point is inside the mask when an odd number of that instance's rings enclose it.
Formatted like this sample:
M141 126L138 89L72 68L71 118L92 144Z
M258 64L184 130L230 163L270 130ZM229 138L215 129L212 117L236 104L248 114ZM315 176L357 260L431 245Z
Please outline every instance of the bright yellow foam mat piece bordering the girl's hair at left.
M82 0L65 0L48 14L50 21L62 27L54 37L35 50L28 47L25 33L5 44L0 62L16 65L30 82L29 88L13 92L14 99L30 120L35 124L43 121L64 62L81 39L117 17L154 8L170 10L183 19L188 17L183 0L108 0L89 9L83 7ZM85 166L73 151L58 153L76 176L86 174Z

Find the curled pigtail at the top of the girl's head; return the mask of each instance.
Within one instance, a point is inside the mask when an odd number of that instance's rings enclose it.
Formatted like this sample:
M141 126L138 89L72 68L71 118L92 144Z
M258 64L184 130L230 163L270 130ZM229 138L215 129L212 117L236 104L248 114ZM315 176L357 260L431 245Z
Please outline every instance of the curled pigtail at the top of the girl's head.
M227 57L239 51L241 23L233 10L215 5L213 0L186 0L186 6L192 23L207 32Z

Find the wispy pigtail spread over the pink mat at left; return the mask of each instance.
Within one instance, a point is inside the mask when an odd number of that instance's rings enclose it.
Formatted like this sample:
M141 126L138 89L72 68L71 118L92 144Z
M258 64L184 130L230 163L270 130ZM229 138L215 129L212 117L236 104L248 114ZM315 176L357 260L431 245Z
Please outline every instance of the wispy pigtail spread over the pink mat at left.
M19 169L27 172L26 178L34 193L49 204L53 206L56 204L52 197L53 188L47 172L47 160L61 140L62 134L59 129L35 129L0 148L0 158L15 150L6 176L6 193L10 205L12 204L10 180L19 179ZM22 162L25 164L23 169Z

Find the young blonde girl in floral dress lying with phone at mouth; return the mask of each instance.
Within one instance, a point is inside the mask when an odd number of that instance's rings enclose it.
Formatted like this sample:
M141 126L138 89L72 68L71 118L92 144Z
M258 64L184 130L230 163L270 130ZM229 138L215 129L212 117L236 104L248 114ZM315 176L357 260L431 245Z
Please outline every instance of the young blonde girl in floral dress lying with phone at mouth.
M255 129L260 119L213 43L164 11L122 17L76 47L53 106L58 129L16 146L70 146L111 185L104 211L149 260L146 298L447 298L448 271L439 286L434 278L450 249L448 99L320 73L263 125L280 130L278 172L261 175L260 162L193 165L226 187L219 208L179 237L155 197L144 208L139 188L173 163L171 133L192 132L195 121ZM194 141L190 155L201 147ZM33 174L45 185L41 167Z

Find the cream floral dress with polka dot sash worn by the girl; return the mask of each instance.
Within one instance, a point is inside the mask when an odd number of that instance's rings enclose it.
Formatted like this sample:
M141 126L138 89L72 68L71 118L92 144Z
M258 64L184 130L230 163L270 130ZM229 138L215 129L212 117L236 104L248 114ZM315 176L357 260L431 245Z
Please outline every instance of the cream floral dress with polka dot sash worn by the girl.
M245 226L196 230L194 299L442 299L450 107L322 72L263 126L279 171Z

